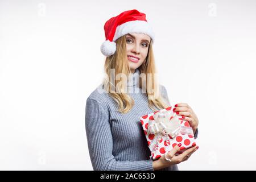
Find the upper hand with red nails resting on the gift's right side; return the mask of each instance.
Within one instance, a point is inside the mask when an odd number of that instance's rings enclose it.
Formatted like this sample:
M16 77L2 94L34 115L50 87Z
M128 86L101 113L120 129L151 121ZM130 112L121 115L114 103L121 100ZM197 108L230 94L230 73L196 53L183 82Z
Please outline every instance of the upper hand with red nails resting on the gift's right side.
M175 104L175 107L172 110L189 122L189 125L192 127L195 134L199 121L192 108L186 103L179 103Z

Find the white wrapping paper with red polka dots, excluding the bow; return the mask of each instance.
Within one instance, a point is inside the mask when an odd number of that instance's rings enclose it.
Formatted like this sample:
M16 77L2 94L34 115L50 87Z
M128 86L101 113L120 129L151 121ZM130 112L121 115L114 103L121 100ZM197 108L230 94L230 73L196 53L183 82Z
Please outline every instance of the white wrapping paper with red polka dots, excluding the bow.
M174 112L172 111L173 106L167 107L165 109L159 110L159 111L169 111L172 114ZM159 159L162 155L166 154L166 152L172 150L173 147L176 146L176 144L181 143L180 151L177 152L177 154L181 154L184 152L187 148L190 148L192 146L196 146L195 138L193 135L188 135L184 133L179 133L175 138L170 138L168 136L161 136L161 138L157 138L155 134L150 134L148 131L148 121L151 119L153 120L153 115L157 113L158 111L155 111L154 113L150 113L147 115L143 115L141 119L141 124L144 130L144 134L147 139L148 147L151 151L151 158L153 160ZM176 117L179 118L180 126L181 127L190 127L189 122L182 119L181 115L176 115Z

